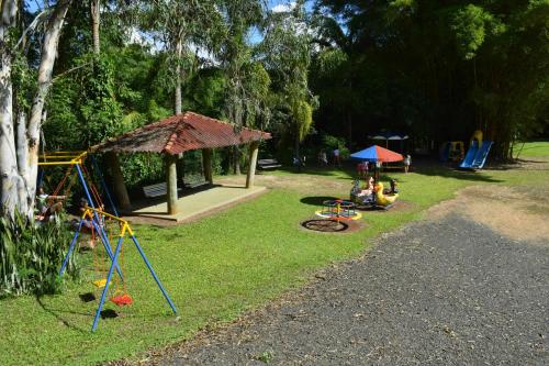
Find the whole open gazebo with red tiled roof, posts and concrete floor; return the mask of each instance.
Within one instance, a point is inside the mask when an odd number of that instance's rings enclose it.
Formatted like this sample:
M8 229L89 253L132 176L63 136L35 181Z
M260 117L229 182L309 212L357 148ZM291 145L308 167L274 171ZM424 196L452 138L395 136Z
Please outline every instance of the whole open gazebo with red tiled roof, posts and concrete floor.
M107 154L108 164L113 176L114 193L121 209L126 212L132 209L132 203L116 154L163 154L167 167L167 200L166 202L156 201L153 206L141 208L134 211L134 213L183 221L189 219L193 213L202 214L208 207L215 209L261 191L264 188L254 187L254 177L259 143L268 138L271 138L271 135L267 132L246 127L235 131L233 124L194 112L186 112L147 124L116 138L96 145L92 151ZM212 149L242 144L249 144L249 166L245 187L216 187L209 190L208 193L199 192L192 195L192 198L182 197L178 200L177 162L180 154L201 149L204 178L210 184L213 184ZM201 201L203 204L200 204Z

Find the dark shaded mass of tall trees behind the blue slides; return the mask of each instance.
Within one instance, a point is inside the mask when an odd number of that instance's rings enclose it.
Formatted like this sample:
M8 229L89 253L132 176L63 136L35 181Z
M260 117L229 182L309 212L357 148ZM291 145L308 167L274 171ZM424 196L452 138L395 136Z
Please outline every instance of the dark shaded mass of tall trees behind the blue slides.
M546 0L317 0L315 16L318 130L446 141L481 129L506 158L514 136L549 124Z

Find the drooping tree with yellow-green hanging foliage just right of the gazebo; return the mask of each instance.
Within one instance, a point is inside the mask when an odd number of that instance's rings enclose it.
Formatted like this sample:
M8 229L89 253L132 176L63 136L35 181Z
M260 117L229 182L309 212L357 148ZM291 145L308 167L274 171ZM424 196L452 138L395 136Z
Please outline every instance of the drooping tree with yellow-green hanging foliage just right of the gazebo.
M309 88L312 40L304 1L269 14L260 51L277 90L282 130L293 136L295 159L300 162L300 143L311 132L313 109L317 107L317 98Z

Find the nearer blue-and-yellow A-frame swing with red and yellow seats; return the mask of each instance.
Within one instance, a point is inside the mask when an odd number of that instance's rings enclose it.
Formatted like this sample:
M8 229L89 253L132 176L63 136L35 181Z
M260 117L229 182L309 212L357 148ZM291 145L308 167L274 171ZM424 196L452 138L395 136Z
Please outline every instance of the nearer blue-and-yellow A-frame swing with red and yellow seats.
M109 268L109 271L107 274L107 278L104 279L101 279L98 281L98 284L96 286L98 287L102 287L103 288L103 291L101 293L101 300L99 301L99 306L98 306L98 309L96 311L96 317L93 319L93 324L91 326L91 331L94 332L97 326L98 326L98 322L99 322L99 317L101 314L101 310L103 308L103 304L107 300L107 296L109 293L109 288L110 286L112 285L112 279L113 279L113 275L114 275L114 268L119 268L119 259L121 258L122 256L122 245L123 245L123 242L124 242L124 237L126 236L130 236L130 239L132 240L132 242L134 243L135 247L137 248L137 252L139 252L139 255L141 257L143 258L143 262L145 262L145 265L147 266L148 270L150 271L150 275L153 276L153 278L155 279L156 284L158 285L160 291L163 292L166 301L168 302L168 304L170 306L171 310L173 311L173 314L177 315L177 309L176 309L176 306L173 304L173 302L171 301L170 297L168 296L168 292L166 292L166 290L164 289L160 280L158 279L158 277L156 276L156 273L155 270L153 269L153 266L150 265L150 263L148 262L147 257L145 256L145 253L143 252L143 248L141 247L139 245L139 242L137 241L137 239L135 237L135 233L134 231L132 230L132 228L130 226L128 222L119 218L119 217L115 217L115 215L112 215L108 212L104 212L104 211L101 211L101 210L98 210L98 209L94 209L94 208L87 208L86 211L83 212L82 217L80 218L80 222L78 223L78 228L77 230L75 231L75 235L72 236L72 241L70 243L70 246L69 246L69 249L67 252L67 255L65 256L65 259L63 262L63 266L59 270L59 276L63 276L66 267L67 267L67 264L68 264L68 259L70 258L70 255L72 253L72 251L75 249L75 245L77 243L77 240L78 240L78 236L80 234L80 231L82 229L82 225L85 223L86 220L90 220L92 223L93 223L93 228L98 231L101 231L103 233L103 235L99 235L98 239L103 243L103 247L107 249L108 247L110 248L111 247L111 243L108 239L108 235L104 233L104 225L102 225L99 221L97 221L97 218L99 217L104 217L104 218L109 218L111 220L114 220L119 223L120 225L120 232L119 232L119 240L117 240L117 243L116 243L116 247L114 249L114 253L111 257L111 266ZM107 251L109 253L109 251ZM125 279L122 277L122 270L119 269L119 278L121 281L123 281L123 284L125 284ZM115 280L119 280L119 278L115 278ZM132 297L127 293L126 291L126 288L125 286L123 286L123 289L121 290L120 287L117 287L116 291L114 291L114 293L111 296L110 300L115 303L116 306L126 306L126 304L131 304L133 303L133 299Z

